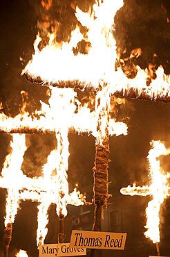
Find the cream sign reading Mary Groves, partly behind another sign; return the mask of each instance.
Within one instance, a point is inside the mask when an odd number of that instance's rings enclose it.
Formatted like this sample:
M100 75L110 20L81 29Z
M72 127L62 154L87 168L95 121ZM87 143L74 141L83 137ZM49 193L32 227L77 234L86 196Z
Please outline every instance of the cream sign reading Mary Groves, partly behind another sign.
M70 247L66 244L41 244L39 246L39 257L56 256L82 256L86 255L86 249L82 247Z

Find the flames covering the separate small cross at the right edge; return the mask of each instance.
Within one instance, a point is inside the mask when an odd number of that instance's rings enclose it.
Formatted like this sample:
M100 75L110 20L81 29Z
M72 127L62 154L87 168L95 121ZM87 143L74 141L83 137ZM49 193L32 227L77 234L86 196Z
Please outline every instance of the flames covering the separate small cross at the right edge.
M152 196L153 199L149 201L146 209L147 224L145 228L147 231L144 235L146 238L150 238L153 243L156 243L160 242L160 207L164 199L170 196L169 174L164 173L160 167L160 160L158 158L169 155L170 149L167 149L163 142L160 141L152 141L151 147L152 149L147 156L149 161L150 185L143 185L142 187L136 186L135 184L132 187L128 185L127 188L122 188L120 192L131 196Z

